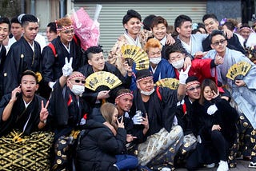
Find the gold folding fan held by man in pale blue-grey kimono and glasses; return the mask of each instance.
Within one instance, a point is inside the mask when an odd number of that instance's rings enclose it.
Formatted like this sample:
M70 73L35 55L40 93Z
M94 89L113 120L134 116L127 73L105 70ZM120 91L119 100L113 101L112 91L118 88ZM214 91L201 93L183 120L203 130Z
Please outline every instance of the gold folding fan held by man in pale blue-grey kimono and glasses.
M238 62L230 67L228 70L226 77L230 78L231 80L241 80L248 71L250 70L250 63L248 62Z

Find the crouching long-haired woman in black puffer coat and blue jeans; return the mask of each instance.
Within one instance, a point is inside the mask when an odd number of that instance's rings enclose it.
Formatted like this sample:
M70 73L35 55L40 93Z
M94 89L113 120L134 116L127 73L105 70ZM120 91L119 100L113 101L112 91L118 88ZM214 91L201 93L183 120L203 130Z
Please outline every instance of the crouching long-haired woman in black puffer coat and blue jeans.
M135 169L138 160L123 154L126 151L126 129L123 117L118 121L118 109L105 103L100 112L104 122L89 119L78 139L77 170L129 170Z

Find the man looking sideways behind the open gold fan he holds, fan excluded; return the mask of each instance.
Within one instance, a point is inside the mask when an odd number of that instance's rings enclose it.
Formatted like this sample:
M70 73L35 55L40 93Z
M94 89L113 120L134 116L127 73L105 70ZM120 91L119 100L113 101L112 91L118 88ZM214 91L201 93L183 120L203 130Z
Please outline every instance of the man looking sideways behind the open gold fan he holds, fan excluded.
M85 66L82 66L78 71L81 72L86 78L93 74L94 72L98 71L107 71L115 76L117 76L120 81L122 82L122 85L125 88L130 87L131 82L131 76L132 76L132 70L131 67L126 64L126 67L123 67L124 70L128 71L126 72L126 77L123 77L118 68L115 66L106 63L105 59L103 57L103 50L100 46L92 46L86 50L87 58L88 58L88 64ZM114 103L114 95L118 88L109 90L100 90L92 91L90 89L86 89L85 93L82 94L82 97L86 99L86 101L90 102L90 106L93 107L100 107L102 104L102 100L106 99L107 101L110 101Z

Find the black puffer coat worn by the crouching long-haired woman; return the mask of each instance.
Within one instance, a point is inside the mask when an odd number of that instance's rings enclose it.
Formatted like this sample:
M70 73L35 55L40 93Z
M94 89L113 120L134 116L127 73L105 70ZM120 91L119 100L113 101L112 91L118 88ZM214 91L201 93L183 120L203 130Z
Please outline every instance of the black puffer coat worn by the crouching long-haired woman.
M110 171L114 167L115 155L126 149L126 129L118 128L117 135L102 123L87 120L85 130L78 140L76 152L77 170Z

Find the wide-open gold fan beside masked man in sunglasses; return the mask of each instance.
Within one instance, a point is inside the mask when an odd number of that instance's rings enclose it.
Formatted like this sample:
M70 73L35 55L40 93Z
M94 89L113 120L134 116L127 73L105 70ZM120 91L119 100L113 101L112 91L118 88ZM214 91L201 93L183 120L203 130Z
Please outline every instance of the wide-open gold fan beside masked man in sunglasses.
M94 91L114 89L122 82L114 74L106 71L98 71L86 78L86 88Z

